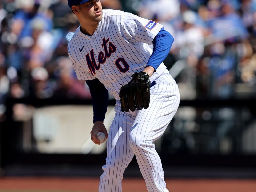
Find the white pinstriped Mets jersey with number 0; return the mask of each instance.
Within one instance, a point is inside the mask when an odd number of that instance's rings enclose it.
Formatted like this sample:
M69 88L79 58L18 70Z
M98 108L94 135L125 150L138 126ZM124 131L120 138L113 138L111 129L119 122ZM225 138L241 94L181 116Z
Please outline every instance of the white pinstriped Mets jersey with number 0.
M152 54L149 45L163 26L131 13L103 10L103 18L92 36L77 28L68 44L68 53L79 80L99 79L119 98L122 85L136 71L143 71ZM156 80L166 69L161 63L150 77Z

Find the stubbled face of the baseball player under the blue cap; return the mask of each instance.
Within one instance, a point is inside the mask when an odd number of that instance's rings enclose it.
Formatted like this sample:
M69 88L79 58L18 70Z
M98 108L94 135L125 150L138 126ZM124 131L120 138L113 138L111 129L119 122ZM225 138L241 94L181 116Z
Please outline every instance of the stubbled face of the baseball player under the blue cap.
M91 0L78 6L84 20L99 22L102 20L102 6L99 0Z

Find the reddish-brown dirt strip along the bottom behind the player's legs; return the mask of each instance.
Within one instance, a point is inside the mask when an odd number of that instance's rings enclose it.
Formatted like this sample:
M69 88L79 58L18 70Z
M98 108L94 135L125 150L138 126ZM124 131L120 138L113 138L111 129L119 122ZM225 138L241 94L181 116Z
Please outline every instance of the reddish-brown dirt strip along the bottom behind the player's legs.
M97 192L99 178L4 177L0 192ZM166 179L170 192L255 192L256 180ZM142 178L123 179L123 192L146 192Z

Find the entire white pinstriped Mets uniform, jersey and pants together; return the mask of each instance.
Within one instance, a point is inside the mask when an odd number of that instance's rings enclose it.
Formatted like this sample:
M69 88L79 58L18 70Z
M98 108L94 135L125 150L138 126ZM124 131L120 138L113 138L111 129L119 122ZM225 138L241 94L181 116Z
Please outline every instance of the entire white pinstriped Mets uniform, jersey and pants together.
M150 88L148 109L122 113L119 98L121 86L131 80L134 72L146 67L152 54L149 45L161 28L159 23L131 13L103 10L103 19L92 36L81 33L79 27L68 44L77 78L99 79L116 99L100 192L122 191L123 173L134 155L148 191L168 191L153 141L164 133L177 111L180 97L176 82L161 63L150 77L156 84Z

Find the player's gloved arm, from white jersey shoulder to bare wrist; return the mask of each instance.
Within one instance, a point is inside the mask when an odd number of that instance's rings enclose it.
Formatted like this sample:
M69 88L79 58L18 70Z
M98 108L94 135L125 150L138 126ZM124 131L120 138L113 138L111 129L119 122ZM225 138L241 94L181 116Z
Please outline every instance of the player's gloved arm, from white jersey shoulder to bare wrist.
M173 36L164 30L164 26L152 20L141 18L131 13L121 18L121 32L130 43L143 42L153 44L153 53L150 56L144 72L150 76L167 57Z

